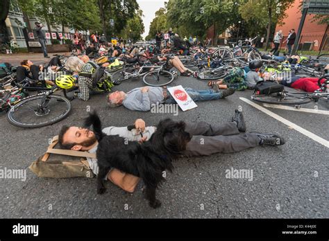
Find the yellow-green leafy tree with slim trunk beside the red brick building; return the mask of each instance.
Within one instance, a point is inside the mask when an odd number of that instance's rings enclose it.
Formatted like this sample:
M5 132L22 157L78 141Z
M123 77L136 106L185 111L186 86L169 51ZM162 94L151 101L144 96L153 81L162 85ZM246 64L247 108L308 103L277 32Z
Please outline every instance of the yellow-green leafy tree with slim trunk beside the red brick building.
M248 0L239 8L243 19L248 22L257 22L259 28L267 29L265 51L269 45L272 26L282 24L282 19L287 17L285 10L294 3L295 0Z

